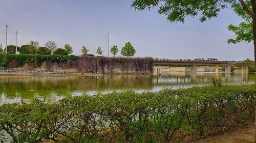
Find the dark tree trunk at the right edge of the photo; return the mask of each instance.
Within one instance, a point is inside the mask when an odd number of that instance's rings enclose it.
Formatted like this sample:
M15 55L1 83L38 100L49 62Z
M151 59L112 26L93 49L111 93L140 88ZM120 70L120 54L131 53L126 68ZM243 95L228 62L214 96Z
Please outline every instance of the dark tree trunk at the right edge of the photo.
M251 7L252 7L252 22L253 22L253 27L252 27L252 33L253 33L253 45L254 45L254 62L255 62L255 67L256 67L256 1L251 0Z

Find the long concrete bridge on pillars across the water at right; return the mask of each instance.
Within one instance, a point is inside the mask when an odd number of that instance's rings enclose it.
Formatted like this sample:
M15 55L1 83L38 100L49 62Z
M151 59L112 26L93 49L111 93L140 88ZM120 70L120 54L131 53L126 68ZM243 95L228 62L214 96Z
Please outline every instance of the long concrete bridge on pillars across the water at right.
M230 73L231 66L242 66L242 72L248 73L248 66L254 63L242 63L234 61L210 61L210 60L166 60L155 59L154 65L186 65L190 66L191 73L197 73L197 66L215 66L215 72L219 72L220 66L225 67L225 73Z

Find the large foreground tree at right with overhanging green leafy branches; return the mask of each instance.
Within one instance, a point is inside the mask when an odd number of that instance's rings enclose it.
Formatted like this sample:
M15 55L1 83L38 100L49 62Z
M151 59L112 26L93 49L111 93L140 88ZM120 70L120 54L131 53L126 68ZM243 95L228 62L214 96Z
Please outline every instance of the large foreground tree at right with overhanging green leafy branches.
M250 6L249 6L250 4ZM159 6L161 5L161 6ZM135 0L132 7L138 9L139 11L148 9L151 10L153 7L158 7L158 13L160 15L167 15L167 19L170 22L180 21L184 23L184 18L186 16L195 17L201 14L200 21L204 22L212 17L217 17L218 13L227 8L229 5L234 9L234 11L239 13L246 13L249 19L252 19L252 36L254 45L254 60L256 66L256 1L255 0L197 0L197 1L169 1L169 0ZM239 7L238 7L239 6ZM239 12L238 12L239 11ZM246 18L245 18L246 19ZM248 24L248 21L246 22ZM248 25L242 24L243 28ZM230 29L231 28L231 29ZM232 31L232 27L229 27ZM248 30L248 29L247 29ZM250 33L242 31L243 33ZM244 35L244 34L243 34ZM247 37L247 36L246 36ZM229 43L236 43L239 41L246 41L246 37L241 38L238 41L230 41Z

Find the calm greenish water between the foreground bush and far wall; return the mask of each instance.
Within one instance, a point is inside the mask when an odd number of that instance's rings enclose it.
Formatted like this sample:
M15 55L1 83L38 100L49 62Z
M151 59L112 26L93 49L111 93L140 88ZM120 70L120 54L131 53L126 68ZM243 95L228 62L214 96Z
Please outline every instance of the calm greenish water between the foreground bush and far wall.
M49 98L52 101L67 95L93 95L112 90L159 91L162 88L187 88L211 84L212 78L224 84L256 83L256 74L241 73L172 73L157 75L104 76L0 76L0 104L21 99Z

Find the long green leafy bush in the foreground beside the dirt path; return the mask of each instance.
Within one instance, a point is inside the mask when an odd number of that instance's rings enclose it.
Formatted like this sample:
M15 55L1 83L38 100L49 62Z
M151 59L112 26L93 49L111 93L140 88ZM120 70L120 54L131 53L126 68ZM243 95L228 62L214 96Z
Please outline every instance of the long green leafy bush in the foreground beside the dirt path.
M255 96L250 84L34 99L2 105L0 130L13 142L170 142L181 131L205 136L249 123Z

